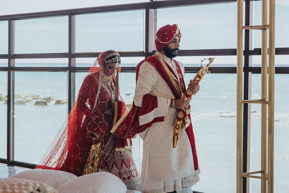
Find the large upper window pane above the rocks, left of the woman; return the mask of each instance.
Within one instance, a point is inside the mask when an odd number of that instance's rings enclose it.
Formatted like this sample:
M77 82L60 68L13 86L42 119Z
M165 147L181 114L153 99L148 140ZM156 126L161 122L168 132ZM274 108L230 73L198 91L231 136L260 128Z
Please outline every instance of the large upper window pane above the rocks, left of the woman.
M68 16L15 21L15 54L68 52Z

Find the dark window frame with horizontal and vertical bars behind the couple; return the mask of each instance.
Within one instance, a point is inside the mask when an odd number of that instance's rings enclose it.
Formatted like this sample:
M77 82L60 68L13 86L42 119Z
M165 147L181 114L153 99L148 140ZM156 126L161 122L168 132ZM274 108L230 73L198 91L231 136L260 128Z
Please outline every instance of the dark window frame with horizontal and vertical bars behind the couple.
M257 0L255 0L257 1ZM215 3L236 3L236 0L203 0L201 4ZM75 79L74 72L85 72L89 67L76 67L75 58L97 57L99 52L75 53L75 15L104 12L120 12L129 10L145 10L144 28L144 51L139 52L120 52L121 57L149 57L154 54L155 47L152 43L153 35L156 32L156 12L158 8L181 7L201 5L199 1L191 0L168 0L168 1L148 1L143 3L130 3L112 6L100 6L92 8L79 8L70 10L37 12L27 14L15 14L0 16L0 21L8 21L8 54L0 54L0 59L8 59L7 67L0 67L0 71L5 71L7 75L7 159L0 158L0 163L12 166L35 168L36 165L23 163L14 160L14 72L16 71L49 71L49 72L68 72L68 112L70 112L75 98ZM253 18L253 2L245 0L245 25L249 26ZM40 54L14 54L14 21L20 19L33 19L42 17L68 16L68 52L65 53L40 53ZM261 74L261 67L252 67L251 56L261 55L261 48L252 48L252 30L244 30L244 100L248 100L251 94L252 73ZM208 49L208 50L180 50L179 56L236 56L237 49ZM275 55L289 55L289 45L287 48L275 48ZM15 67L15 59L24 58L68 58L67 67ZM237 67L210 67L211 73L235 74ZM195 73L199 67L185 67L186 73ZM135 72L135 67L122 67L122 72ZM275 67L275 74L289 74L289 65ZM250 105L244 104L243 112L243 172L247 172L247 156L250 141L248 133L250 129L248 123L251 119ZM245 179L245 178L244 178ZM248 180L243 180L243 192L247 191Z

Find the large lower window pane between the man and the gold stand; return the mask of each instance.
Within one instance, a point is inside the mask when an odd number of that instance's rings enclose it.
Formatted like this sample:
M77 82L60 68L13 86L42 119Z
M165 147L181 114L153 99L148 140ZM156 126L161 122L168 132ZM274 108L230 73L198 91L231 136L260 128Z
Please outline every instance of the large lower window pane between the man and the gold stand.
M186 85L195 75L185 74ZM190 102L201 170L194 191L224 192L224 187L225 192L236 191L236 78L236 74L207 74Z

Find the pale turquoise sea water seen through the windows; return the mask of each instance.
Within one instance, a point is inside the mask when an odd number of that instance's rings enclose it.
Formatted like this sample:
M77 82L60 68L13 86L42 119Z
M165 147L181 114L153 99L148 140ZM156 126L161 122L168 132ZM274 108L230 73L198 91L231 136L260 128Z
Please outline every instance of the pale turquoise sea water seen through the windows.
M75 74L76 96L85 72ZM195 73L185 75L185 83ZM207 74L193 97L192 125L201 170L201 181L193 186L199 192L236 192L236 74ZM253 74L252 98L260 99L261 75ZM7 92L7 72L0 72L0 93ZM121 73L121 96L133 101L135 73ZM275 75L275 192L289 189L289 75ZM67 98L67 72L15 72L15 94L37 94L55 100ZM17 100L17 98L15 99ZM35 106L35 100L15 105L14 160L37 164L67 116L67 103ZM260 105L252 105L252 171L260 170ZM255 112L256 111L256 112ZM6 158L7 105L0 101L0 157ZM134 160L140 170L142 140L133 140ZM157 147L156 147L157 148ZM252 179L252 192L260 192L259 179Z

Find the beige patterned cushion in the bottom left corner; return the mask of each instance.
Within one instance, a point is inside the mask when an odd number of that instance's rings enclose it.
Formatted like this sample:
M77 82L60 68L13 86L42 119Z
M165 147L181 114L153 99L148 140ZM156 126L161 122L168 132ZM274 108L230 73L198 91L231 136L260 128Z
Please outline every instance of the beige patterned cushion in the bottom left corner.
M56 190L46 183L27 180L21 178L1 178L0 179L1 193L57 193Z

